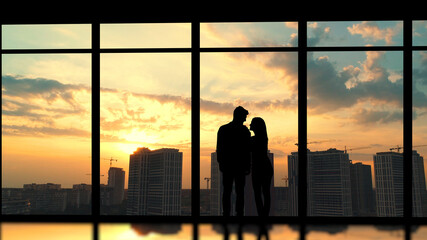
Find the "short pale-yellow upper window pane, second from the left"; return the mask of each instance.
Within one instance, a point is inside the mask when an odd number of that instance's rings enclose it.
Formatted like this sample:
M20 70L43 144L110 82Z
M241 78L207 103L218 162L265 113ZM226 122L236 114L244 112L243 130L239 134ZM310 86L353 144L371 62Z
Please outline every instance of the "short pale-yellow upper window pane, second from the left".
M191 24L101 24L101 48L189 48Z

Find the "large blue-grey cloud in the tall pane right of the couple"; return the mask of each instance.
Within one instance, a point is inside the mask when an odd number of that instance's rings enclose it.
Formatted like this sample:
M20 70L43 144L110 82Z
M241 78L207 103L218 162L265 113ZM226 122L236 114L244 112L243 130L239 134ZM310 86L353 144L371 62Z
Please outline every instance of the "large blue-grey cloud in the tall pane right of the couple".
M307 90L312 114L351 108L361 102L402 107L403 80L390 81L390 73L379 63L383 53L368 52L366 56L360 68L347 66L337 70L328 58L309 55Z

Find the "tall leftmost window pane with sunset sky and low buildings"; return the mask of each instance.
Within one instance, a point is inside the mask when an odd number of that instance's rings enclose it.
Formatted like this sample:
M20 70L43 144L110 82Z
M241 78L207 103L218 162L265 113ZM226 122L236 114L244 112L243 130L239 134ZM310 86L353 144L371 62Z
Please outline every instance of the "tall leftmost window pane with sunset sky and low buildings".
M90 214L91 56L2 55L3 214Z

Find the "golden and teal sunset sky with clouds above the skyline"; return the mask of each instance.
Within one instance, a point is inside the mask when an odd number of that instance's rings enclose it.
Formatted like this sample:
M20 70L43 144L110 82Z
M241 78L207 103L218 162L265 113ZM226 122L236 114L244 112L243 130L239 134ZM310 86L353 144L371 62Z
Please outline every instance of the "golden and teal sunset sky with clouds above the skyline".
M101 47L190 47L190 24L101 26ZM427 22L414 23L427 44ZM310 22L309 46L400 46L401 22ZM149 34L148 34L149 33ZM31 37L29 37L31 36ZM160 37L159 37L160 36ZM89 48L90 25L2 26L2 48ZM289 23L201 24L201 47L296 47ZM210 176L218 128L242 105L263 117L283 185L297 151L298 54L202 53L201 187ZM403 145L403 53L314 52L308 65L308 148L364 148L350 159ZM414 145L427 144L427 52L414 53ZM2 55L2 185L90 183L90 54ZM191 54L101 54L101 183L108 159L124 168L137 147L178 148L191 186ZM427 147L417 149L427 156ZM426 164L427 167L427 164Z

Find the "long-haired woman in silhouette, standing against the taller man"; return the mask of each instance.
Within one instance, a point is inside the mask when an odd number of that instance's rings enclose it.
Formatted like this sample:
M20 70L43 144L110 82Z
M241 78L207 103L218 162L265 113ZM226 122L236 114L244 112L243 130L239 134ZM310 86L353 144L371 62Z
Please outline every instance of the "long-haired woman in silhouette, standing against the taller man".
M250 130L255 133L255 136L251 138L252 187L255 204L258 216L268 216L270 213L270 184L273 177L273 166L267 155L267 127L262 118L255 117L250 124Z

